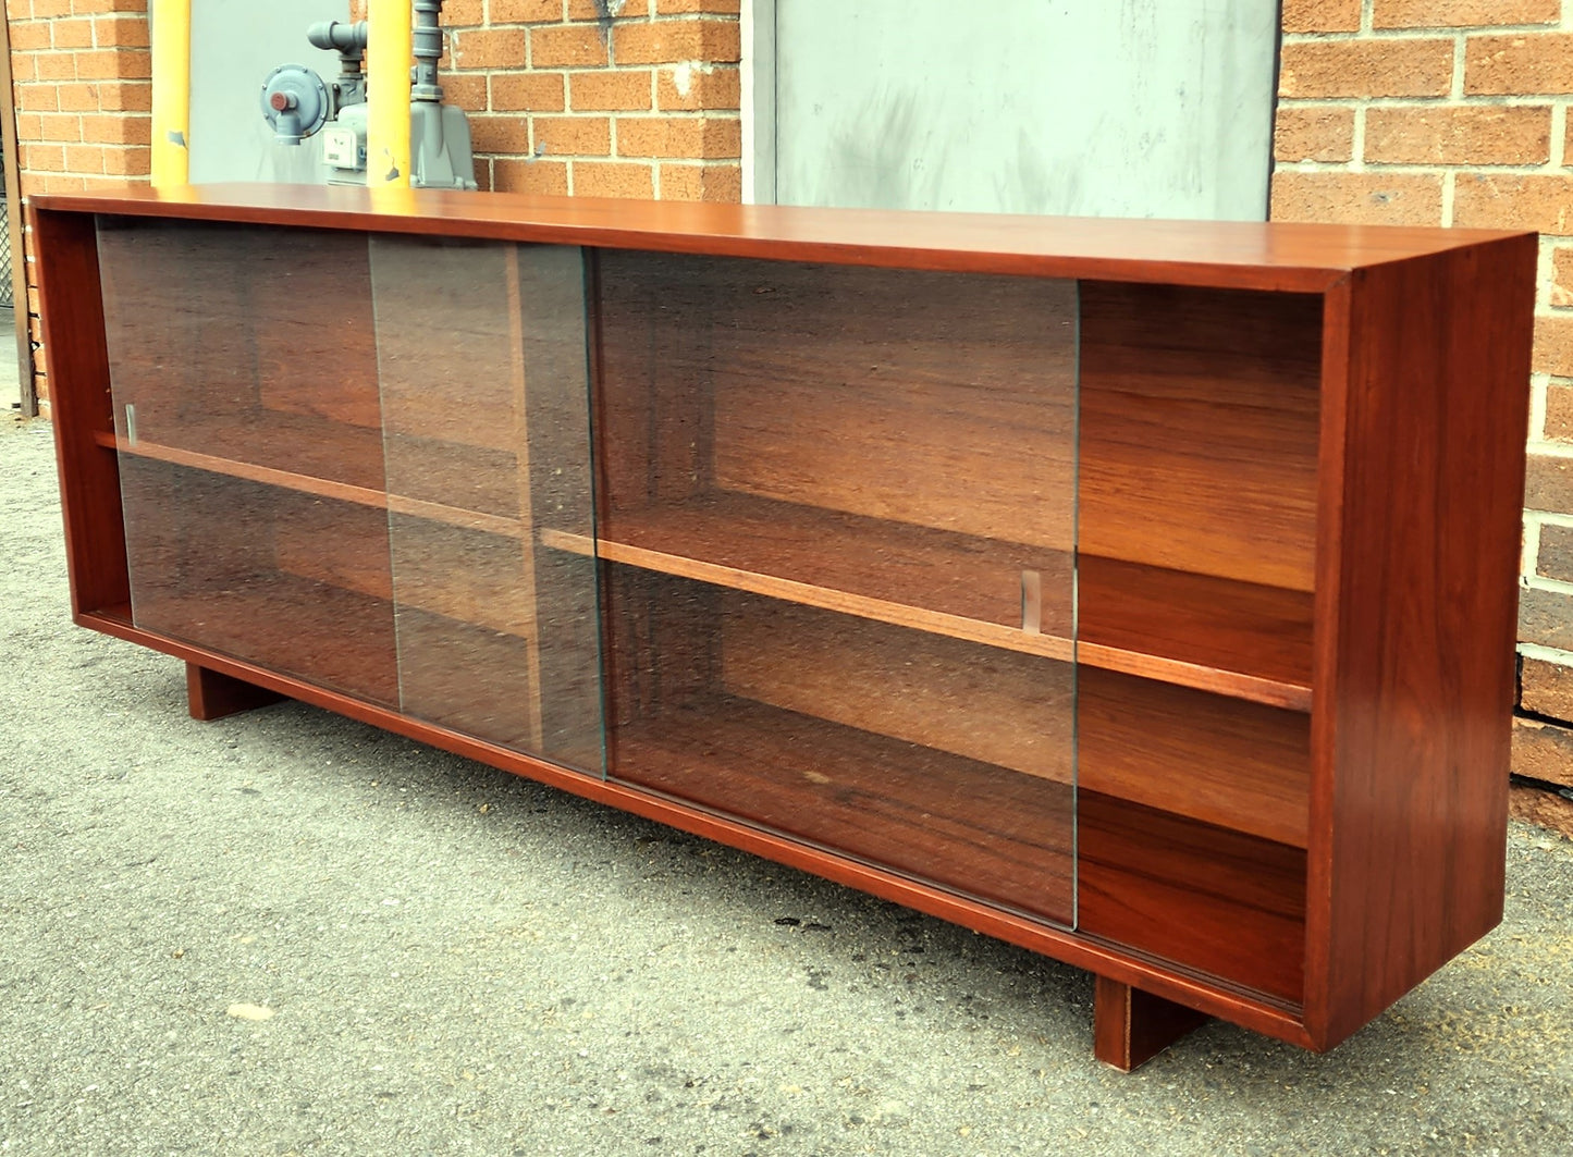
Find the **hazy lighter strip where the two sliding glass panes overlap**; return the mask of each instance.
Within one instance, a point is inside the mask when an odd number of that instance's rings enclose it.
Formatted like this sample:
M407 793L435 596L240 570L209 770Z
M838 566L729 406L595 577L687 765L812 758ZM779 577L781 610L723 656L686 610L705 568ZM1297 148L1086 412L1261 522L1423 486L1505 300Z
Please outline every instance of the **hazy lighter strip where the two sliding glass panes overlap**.
M577 248L374 236L407 714L602 773Z

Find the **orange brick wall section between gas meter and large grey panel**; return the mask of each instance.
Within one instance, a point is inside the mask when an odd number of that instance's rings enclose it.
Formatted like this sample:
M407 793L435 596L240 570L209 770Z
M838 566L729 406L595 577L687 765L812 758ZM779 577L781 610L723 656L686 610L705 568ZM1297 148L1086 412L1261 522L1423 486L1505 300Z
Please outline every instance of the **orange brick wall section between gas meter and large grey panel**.
M448 0L483 189L736 201L739 0Z

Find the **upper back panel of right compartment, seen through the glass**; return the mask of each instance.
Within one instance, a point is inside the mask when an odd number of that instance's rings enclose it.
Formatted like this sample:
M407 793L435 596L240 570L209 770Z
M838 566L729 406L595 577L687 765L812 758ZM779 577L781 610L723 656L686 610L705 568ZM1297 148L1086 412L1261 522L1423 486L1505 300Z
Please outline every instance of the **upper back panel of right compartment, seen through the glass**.
M635 440L653 407L667 456L664 478L624 467L613 509L713 486L1070 544L1074 283L621 252L599 267L604 390Z

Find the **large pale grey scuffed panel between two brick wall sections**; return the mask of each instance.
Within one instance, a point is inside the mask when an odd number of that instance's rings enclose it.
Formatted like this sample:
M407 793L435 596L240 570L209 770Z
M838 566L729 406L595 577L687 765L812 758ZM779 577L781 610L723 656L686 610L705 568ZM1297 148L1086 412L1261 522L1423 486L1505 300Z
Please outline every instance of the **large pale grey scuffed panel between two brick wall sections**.
M1263 220L1276 0L774 0L783 204Z

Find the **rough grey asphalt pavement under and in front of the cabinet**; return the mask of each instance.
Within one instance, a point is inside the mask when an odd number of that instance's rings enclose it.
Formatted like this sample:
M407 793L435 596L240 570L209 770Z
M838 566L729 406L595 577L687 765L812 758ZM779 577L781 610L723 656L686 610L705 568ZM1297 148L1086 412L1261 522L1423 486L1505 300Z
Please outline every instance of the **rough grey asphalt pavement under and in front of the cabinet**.
M0 1154L1573 1154L1573 843L1315 1056L71 626L0 420Z

